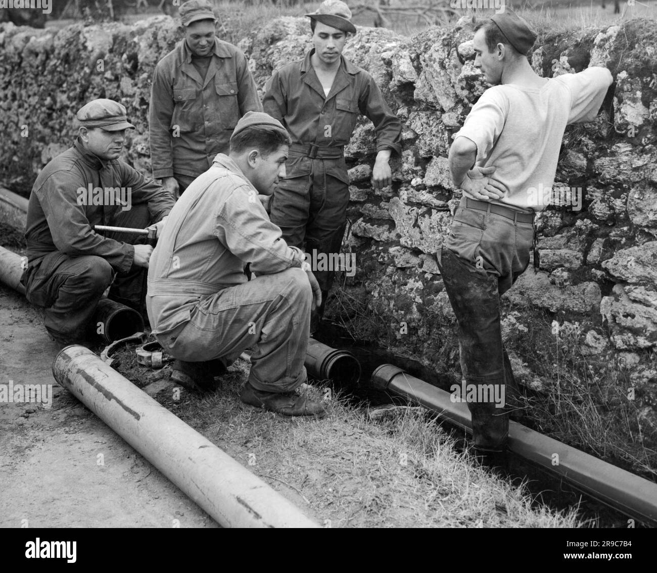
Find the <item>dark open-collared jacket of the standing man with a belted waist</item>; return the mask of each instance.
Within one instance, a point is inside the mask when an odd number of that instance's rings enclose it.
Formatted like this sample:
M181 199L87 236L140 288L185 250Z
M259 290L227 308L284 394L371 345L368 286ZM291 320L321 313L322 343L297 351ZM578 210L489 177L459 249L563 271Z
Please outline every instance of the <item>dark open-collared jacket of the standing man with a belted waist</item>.
M303 60L274 72L265 87L265 112L283 123L292 143L319 147L347 145L360 113L374 124L377 151L392 149L401 153L401 122L384 101L372 76L341 57L340 68L325 96L310 61L314 51L311 49ZM328 175L348 182L344 159L325 162Z

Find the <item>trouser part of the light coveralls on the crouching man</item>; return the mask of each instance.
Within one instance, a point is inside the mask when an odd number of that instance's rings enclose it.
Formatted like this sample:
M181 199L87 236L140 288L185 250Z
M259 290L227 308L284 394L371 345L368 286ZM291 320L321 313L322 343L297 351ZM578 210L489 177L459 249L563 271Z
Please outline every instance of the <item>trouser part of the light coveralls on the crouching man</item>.
M202 298L189 321L156 336L171 355L190 362L228 365L253 348L250 384L290 392L306 382L311 301L306 272L290 268Z

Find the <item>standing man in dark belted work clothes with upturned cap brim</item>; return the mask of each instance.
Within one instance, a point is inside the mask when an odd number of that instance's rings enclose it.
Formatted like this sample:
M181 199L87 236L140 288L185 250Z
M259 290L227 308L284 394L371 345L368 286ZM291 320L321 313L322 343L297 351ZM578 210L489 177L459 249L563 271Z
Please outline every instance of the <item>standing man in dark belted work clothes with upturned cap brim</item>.
M271 201L271 221L281 227L288 244L300 248L305 244L306 253L313 256L313 250L327 254L340 250L349 202L344 146L359 112L376 129L373 183L377 189L392 183L388 160L393 150L401 152L401 123L372 76L342 57L347 35L356 32L347 5L326 0L317 12L306 15L311 18L315 47L303 60L274 72L263 107L292 136L286 177ZM332 271L315 275L325 301ZM324 302L313 317L311 332L323 307Z

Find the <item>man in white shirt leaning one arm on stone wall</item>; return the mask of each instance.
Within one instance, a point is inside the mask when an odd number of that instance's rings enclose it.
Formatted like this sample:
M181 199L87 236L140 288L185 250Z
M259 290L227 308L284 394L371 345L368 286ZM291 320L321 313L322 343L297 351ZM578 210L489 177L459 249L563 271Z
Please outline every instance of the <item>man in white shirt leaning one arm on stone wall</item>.
M505 464L509 398L518 392L502 342L500 296L529 264L534 214L550 202L566 125L595 118L612 83L598 67L539 77L526 57L535 39L508 8L476 26L474 66L493 87L449 150L463 198L438 258L468 396L476 394L468 401L474 447L489 465Z

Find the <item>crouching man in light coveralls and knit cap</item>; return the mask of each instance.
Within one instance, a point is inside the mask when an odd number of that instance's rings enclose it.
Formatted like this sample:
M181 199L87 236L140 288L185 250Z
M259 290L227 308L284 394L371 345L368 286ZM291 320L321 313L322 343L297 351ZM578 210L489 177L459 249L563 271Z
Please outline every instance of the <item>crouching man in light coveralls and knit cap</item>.
M148 319L177 360L172 378L212 390L214 377L247 348L240 398L288 416L324 415L295 390L306 382L311 306L321 304L299 248L288 246L258 194L285 176L290 137L262 112L239 120L229 155L217 154L177 201L148 268ZM244 264L257 274L244 275ZM313 301L314 298L314 301Z

